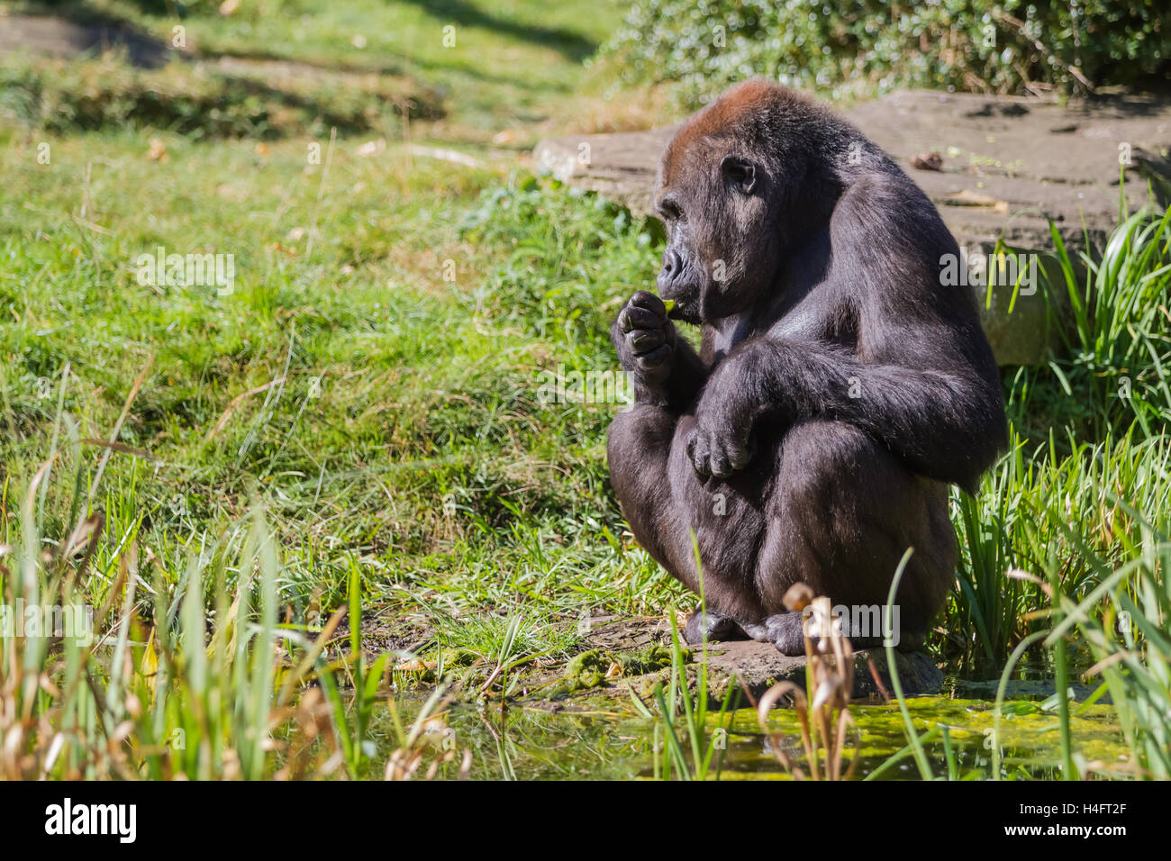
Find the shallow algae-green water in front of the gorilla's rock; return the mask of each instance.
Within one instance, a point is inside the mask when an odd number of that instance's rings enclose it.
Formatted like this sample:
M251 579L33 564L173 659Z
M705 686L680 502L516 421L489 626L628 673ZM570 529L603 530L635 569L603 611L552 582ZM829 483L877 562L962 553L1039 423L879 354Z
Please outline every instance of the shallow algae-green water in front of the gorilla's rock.
M916 727L923 732L937 724L949 727L957 777L987 779L992 768L993 705L985 699L918 697L908 701ZM399 717L410 720L420 703L398 701ZM857 733L848 745L857 745L861 763L856 778L875 771L906 743L903 719L893 704L852 705ZM454 742L472 751L470 777L480 779L619 779L655 777L655 750L659 743L658 722L626 711L569 711L550 713L545 708L453 705L436 716L432 740L436 750ZM771 751L767 736L756 724L755 711L739 710L719 722L726 734L717 752L712 772L720 779L788 779ZM1124 752L1114 710L1090 705L1073 717L1074 746L1087 760L1118 761ZM708 720L708 732L717 731L717 719ZM778 709L769 729L783 733L782 744L803 766L803 752L795 712ZM372 726L378 756L385 761L393 733L385 710L379 710ZM378 738L382 736L382 738ZM1041 703L1018 699L1005 704L1001 717L1001 773L1018 779L1049 779L1057 774L1060 734L1057 718ZM706 745L706 740L705 740ZM683 746L687 749L686 740ZM931 766L939 775L947 773L941 742L926 745ZM430 757L429 757L430 759ZM458 774L458 758L440 766L436 777ZM424 768L425 771L425 768ZM884 772L878 779L918 779L910 758Z

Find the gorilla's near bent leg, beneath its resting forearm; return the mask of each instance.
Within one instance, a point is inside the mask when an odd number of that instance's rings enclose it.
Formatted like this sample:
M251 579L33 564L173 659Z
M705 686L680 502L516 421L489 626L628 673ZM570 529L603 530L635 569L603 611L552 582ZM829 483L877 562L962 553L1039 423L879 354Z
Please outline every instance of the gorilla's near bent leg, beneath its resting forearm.
M803 654L800 616L786 611L783 596L804 582L845 607L849 620L869 622L872 630L847 631L857 645L879 642L890 581L913 547L891 634L900 648L916 648L954 576L956 534L944 485L912 474L883 445L838 422L792 428L775 470L755 568L765 615L741 620L745 631L786 654Z

